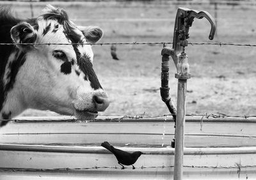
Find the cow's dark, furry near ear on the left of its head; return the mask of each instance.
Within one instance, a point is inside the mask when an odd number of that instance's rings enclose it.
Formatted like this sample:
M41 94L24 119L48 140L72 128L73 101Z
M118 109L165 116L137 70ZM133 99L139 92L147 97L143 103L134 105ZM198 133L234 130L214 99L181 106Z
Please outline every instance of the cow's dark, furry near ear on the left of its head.
M36 33L34 28L28 22L21 22L11 29L11 37L14 43L35 43ZM22 45L17 45L21 47ZM23 45L22 47L27 47ZM28 47L31 47L29 45Z

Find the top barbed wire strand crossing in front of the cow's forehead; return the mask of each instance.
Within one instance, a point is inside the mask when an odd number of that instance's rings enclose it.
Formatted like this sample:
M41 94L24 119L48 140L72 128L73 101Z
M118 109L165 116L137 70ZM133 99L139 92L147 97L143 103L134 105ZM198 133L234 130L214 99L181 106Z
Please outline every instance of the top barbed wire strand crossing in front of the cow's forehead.
M0 45L163 45L173 44L172 42L123 42L123 43L0 43ZM218 45L218 46L240 46L240 47L256 47L256 44L243 44L243 43L208 43L208 42L188 42L189 45Z

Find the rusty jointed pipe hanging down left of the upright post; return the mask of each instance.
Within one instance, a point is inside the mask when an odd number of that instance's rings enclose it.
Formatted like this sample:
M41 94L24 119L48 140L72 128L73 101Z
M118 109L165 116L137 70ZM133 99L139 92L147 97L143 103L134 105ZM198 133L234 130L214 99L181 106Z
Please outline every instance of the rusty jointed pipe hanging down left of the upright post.
M176 107L170 97L170 87L168 86L169 83L169 65L170 65L170 56L174 55L173 49L170 47L164 47L162 52L162 68L161 68L161 87L160 87L160 94L161 98L166 103L170 113L172 114L173 121L176 122Z

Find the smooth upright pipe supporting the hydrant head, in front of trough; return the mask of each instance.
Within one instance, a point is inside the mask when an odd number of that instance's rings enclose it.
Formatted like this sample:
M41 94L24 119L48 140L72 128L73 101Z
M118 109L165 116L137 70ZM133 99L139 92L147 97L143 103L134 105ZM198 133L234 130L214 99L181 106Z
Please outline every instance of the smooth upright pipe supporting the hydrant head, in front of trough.
M175 133L175 161L174 180L182 180L183 174L183 152L184 152L184 128L186 116L186 89L187 80L179 79L177 96L177 120Z

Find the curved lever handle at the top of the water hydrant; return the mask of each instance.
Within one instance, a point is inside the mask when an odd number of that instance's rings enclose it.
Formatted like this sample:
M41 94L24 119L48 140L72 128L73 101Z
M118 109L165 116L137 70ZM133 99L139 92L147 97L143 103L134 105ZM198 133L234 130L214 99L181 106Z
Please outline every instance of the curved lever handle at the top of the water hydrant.
M196 10L191 10L188 13L188 26L192 26L192 22L194 20L194 18L197 19L202 19L205 17L205 19L209 20L210 24L211 24L211 31L209 34L209 40L213 40L214 38L214 34L216 31L216 22L214 20L214 18L207 12L207 11L196 11Z

